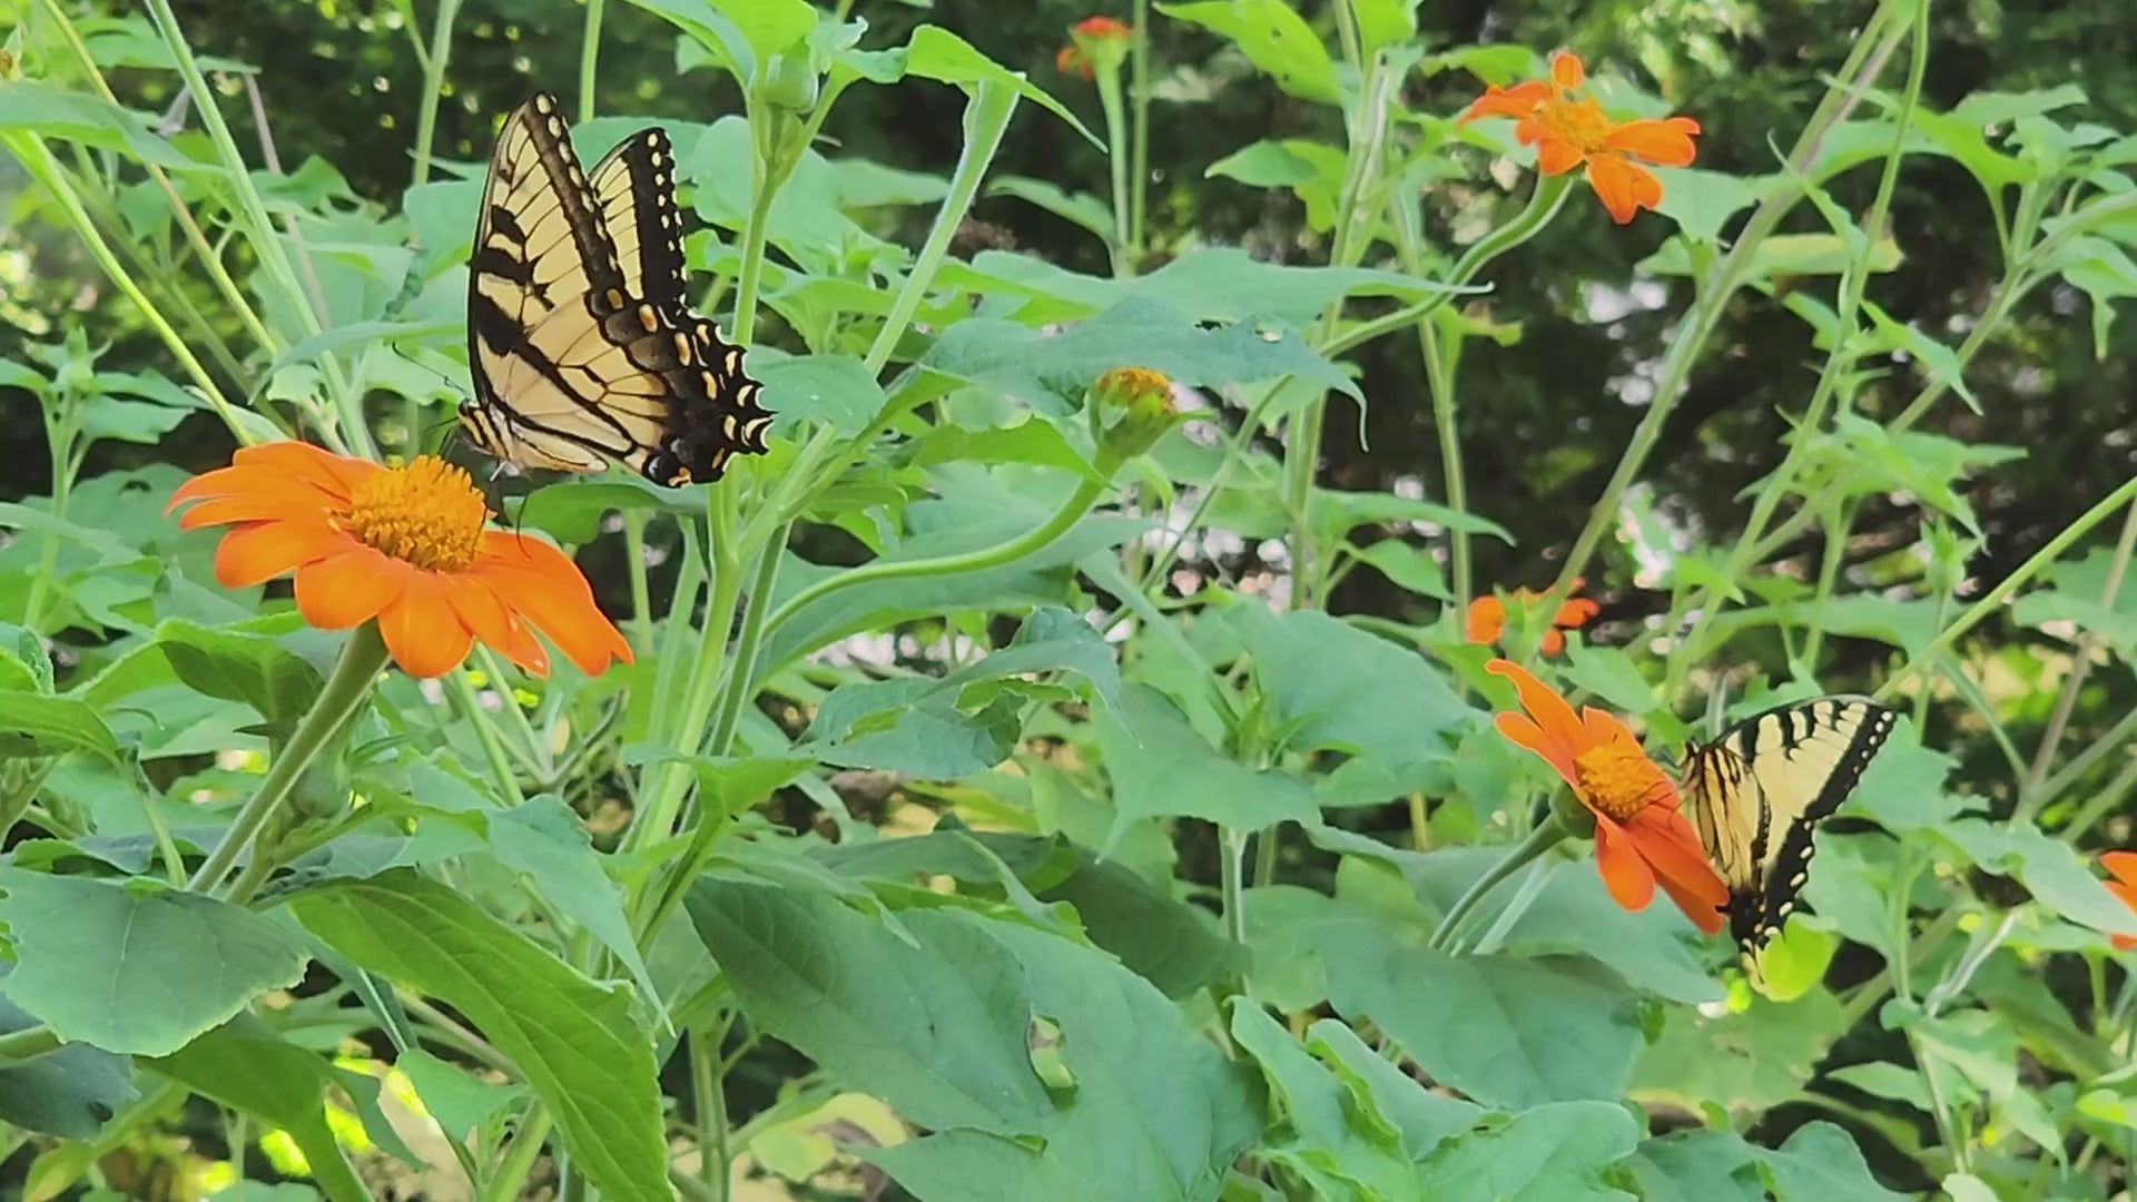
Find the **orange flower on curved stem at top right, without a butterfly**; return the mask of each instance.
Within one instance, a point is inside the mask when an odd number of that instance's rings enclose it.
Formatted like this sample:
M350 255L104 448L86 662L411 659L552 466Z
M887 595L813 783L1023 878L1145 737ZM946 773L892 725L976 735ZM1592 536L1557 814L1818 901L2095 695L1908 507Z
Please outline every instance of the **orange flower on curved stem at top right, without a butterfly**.
M1652 210L1663 201L1663 182L1641 163L1656 167L1686 167L1693 160L1693 135L1699 122L1693 118L1613 122L1603 115L1603 107L1579 90L1588 81L1581 60L1571 53L1551 56L1551 81L1530 79L1513 88L1498 83L1485 88L1483 96L1462 113L1462 122L1477 118L1513 118L1513 137L1522 145L1537 148L1537 171L1562 175L1581 163L1588 165L1588 186L1609 210L1611 220L1624 225L1639 210Z

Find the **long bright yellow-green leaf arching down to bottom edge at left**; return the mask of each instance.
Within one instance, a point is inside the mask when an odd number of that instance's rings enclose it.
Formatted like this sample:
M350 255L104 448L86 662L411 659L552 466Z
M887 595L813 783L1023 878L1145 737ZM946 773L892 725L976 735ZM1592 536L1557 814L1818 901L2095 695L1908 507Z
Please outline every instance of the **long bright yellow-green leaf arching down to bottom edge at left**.
M590 982L408 868L301 894L288 911L359 967L464 1014L549 1108L564 1151L605 1198L671 1198L652 1044L628 992Z

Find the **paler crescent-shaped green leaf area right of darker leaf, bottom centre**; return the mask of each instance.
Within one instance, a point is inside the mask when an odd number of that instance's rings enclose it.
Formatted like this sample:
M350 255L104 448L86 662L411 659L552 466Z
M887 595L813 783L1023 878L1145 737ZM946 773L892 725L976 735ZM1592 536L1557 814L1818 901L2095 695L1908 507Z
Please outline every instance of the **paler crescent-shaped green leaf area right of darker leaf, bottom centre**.
M934 911L983 928L1021 962L1030 1005L1060 1037L1064 1089L1036 1140L953 1129L865 1153L930 1202L1216 1198L1263 1123L1252 1069L1225 1059L1171 1001L1107 954L1066 939ZM906 915L927 918L921 913Z

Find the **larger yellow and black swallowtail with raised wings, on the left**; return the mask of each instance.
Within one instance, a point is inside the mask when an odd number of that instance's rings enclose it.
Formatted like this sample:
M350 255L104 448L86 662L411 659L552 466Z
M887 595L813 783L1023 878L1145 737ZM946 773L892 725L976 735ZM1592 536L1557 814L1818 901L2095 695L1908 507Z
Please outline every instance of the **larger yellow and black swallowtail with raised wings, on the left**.
M742 346L684 306L667 130L630 135L588 178L556 96L506 118L468 259L468 368L459 419L513 466L618 462L673 488L765 449Z

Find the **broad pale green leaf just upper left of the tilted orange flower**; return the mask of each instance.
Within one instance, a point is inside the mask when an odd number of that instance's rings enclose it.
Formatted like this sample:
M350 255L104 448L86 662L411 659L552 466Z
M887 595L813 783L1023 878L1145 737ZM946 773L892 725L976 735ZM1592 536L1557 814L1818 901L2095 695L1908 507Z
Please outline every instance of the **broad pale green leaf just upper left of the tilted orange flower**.
M1475 716L1421 654L1342 618L1259 601L1231 616L1293 751L1346 751L1400 774L1445 759L1447 736Z

